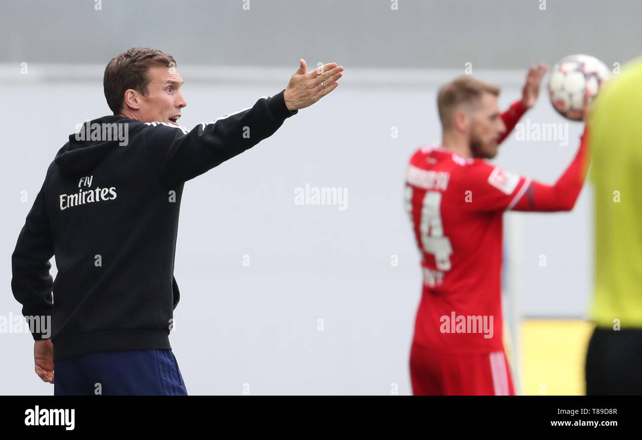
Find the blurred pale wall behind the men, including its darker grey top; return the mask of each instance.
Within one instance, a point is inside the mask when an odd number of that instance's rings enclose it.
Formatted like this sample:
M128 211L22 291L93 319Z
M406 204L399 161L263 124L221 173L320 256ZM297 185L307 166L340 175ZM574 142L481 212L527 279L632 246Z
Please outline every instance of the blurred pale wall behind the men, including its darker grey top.
M241 1L132 3L105 1L102 11L87 1L3 4L4 316L20 313L10 255L24 218L75 125L108 113L101 73L112 56L132 46L175 56L186 80L187 128L279 92L300 57L345 67L336 92L186 183L171 343L190 394L241 394L243 384L250 394L390 394L391 384L410 394L421 277L403 182L413 151L440 139L437 87L472 62L474 76L503 87L506 108L519 99L530 63L582 52L611 67L638 55L640 39L627 24L639 17L633 1L549 1L543 12L537 1L401 1L396 12L387 1L330 1L320 9L254 0L248 12ZM566 122L545 93L525 119ZM393 126L399 139L390 137ZM569 123L567 146L513 135L495 162L554 183L581 130ZM306 183L347 187L347 210L295 205L294 190ZM505 216L510 319L587 316L591 214L587 185L573 212ZM53 393L33 373L30 335L1 334L0 348L10 353L0 394Z

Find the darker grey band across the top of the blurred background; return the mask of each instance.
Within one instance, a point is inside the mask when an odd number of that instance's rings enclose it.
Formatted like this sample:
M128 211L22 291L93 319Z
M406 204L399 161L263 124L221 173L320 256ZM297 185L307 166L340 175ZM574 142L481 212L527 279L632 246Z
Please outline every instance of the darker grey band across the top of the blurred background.
M1 61L96 62L132 46L179 63L523 68L571 53L638 55L638 0L3 1Z

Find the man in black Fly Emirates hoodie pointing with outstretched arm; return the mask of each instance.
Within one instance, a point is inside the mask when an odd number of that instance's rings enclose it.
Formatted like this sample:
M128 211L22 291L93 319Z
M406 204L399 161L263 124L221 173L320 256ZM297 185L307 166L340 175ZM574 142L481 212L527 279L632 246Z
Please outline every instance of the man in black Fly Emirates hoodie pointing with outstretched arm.
M170 55L135 47L108 63L114 115L83 124L58 151L12 255L35 371L56 395L186 394L169 344L184 183L272 135L334 90L342 71L308 72L300 60L286 89L187 131Z

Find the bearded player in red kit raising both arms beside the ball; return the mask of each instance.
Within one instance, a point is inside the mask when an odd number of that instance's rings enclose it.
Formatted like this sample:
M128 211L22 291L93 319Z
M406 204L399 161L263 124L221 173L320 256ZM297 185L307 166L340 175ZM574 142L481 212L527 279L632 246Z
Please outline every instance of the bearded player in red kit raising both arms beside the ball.
M415 321L413 394L514 395L502 335L503 213L568 211L588 167L587 130L555 185L508 173L485 159L539 94L545 65L532 66L521 100L498 110L498 87L463 76L437 98L443 139L410 158L406 209L422 255Z

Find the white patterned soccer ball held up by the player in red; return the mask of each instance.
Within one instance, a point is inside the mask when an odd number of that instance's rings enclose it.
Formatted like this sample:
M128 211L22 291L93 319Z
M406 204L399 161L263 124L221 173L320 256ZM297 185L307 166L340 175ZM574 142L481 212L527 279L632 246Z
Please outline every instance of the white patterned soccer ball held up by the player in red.
M609 78L608 67L591 55L570 55L555 64L548 80L548 95L557 112L573 121L582 121L584 90L591 99L602 81Z

